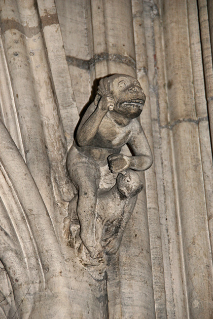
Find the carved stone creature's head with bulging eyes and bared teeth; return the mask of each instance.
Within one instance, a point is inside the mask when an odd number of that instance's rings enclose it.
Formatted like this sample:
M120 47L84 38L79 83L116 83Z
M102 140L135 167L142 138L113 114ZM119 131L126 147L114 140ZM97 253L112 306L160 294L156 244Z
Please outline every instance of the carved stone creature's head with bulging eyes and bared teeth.
M115 100L113 112L128 118L139 116L146 100L139 82L134 77L125 74L114 74L100 80L95 105L104 93L112 94Z

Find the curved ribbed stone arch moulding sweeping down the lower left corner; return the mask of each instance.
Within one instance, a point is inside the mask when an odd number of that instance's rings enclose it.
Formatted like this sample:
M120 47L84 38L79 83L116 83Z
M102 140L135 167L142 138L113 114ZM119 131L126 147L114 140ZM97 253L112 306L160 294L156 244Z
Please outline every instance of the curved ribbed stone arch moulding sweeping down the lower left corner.
M37 318L38 311L41 317L68 317L72 303L50 215L1 120L0 133L0 259L8 281L1 287L7 301L1 317Z

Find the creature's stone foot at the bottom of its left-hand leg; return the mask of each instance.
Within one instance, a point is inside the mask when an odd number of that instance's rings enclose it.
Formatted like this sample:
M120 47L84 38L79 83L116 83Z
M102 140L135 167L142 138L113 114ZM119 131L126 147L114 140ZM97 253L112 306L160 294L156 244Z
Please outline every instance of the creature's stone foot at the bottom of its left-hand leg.
M95 242L92 236L89 236L88 233L84 234L82 231L80 233L81 240L88 250L90 257L92 258L102 258L103 257L103 249L101 243Z

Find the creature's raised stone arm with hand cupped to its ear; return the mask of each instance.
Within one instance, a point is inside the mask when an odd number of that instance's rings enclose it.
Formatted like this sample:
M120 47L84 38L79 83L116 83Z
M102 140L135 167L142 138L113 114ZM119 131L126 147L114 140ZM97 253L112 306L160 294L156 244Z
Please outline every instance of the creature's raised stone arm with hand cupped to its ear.
M83 124L80 124L77 131L77 142L80 146L86 146L90 144L91 140L98 131L99 125L104 115L107 114L109 110L112 110L114 105L115 101L113 96L105 93L98 102L96 109L93 108L93 110L91 110L89 106L84 118L82 118Z

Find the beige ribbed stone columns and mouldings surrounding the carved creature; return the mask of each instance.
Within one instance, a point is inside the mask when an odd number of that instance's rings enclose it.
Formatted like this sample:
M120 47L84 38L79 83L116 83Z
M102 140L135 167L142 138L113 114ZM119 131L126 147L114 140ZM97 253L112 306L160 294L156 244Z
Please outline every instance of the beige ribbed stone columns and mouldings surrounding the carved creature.
M0 19L0 317L211 319L213 2L1 0ZM66 154L112 73L144 88L154 164L97 282L63 239Z

